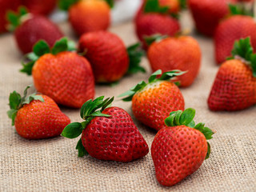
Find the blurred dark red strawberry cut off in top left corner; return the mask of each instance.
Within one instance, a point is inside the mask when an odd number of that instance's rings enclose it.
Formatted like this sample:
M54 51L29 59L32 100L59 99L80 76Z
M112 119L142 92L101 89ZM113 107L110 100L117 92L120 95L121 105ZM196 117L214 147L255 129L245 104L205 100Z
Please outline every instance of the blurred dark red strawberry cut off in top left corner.
M21 0L0 0L0 34L6 32L6 13L8 10L17 11Z

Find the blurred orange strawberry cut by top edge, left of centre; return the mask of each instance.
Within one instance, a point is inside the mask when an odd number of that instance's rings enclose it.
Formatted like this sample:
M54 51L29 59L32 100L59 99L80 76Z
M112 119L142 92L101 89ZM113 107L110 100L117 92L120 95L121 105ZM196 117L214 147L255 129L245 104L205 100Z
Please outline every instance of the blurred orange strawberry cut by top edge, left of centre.
M110 26L111 0L60 0L59 7L68 10L69 21L74 31L82 34L107 30Z

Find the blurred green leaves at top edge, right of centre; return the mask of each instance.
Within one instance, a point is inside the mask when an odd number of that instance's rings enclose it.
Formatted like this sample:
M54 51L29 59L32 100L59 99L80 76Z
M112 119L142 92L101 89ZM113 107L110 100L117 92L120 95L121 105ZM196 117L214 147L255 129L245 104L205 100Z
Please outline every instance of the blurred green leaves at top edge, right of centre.
M144 13L167 14L169 6L160 6L158 0L147 0L144 6Z

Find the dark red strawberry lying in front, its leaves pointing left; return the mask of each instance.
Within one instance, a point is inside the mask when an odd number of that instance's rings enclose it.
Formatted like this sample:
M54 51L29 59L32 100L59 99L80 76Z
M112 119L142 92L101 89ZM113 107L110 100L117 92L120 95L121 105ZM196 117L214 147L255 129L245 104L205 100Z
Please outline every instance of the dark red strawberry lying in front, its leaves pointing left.
M117 162L144 157L149 147L130 115L116 106L107 108L114 98L103 98L87 101L80 113L85 122L66 126L62 136L77 138L82 134L76 147L79 157L88 153L93 158Z

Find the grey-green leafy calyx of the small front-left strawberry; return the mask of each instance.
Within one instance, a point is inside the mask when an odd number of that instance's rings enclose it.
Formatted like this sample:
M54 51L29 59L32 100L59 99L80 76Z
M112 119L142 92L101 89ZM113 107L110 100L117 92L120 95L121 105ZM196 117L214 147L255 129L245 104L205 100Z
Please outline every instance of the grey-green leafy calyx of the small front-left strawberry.
M23 97L18 94L15 90L14 92L10 93L9 96L9 106L10 110L7 111L8 117L12 120L12 126L14 126L14 121L16 118L16 115L18 113L18 110L22 108L22 106L29 104L30 102L34 100L38 100L40 102L45 102L42 96L37 95L37 94L30 94L27 95L27 90L31 86L27 86L26 89L24 90Z

